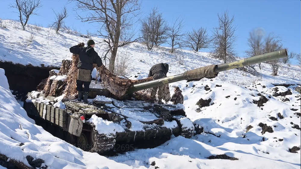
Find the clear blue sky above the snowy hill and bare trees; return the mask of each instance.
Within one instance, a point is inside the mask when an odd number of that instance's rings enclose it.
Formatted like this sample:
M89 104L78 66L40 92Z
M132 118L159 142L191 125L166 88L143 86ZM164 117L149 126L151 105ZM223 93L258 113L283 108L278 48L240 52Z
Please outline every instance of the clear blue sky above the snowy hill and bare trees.
M144 18L151 8L157 6L163 17L169 22L178 16L185 17L184 31L192 28L206 27L209 35L212 28L218 24L217 14L228 10L230 15L234 15L234 24L237 25L237 41L235 49L238 56L244 57L244 51L248 49L247 38L249 32L253 29L262 29L267 34L274 33L280 35L283 39L284 47L290 51L300 53L301 37L301 3L299 0L265 0L265 1L200 1L200 0L144 0L142 2L142 15ZM18 15L12 13L13 9L8 8L14 0L0 0L0 18L17 19ZM42 26L48 26L54 20L54 13L51 8L60 11L66 5L69 11L69 17L66 25L76 28L79 32L86 33L95 31L95 28L88 23L81 23L75 19L74 4L67 4L67 0L42 0L43 7L39 9L39 16L33 16L29 24L39 23ZM140 25L136 25L138 32ZM164 45L166 46L166 45ZM201 51L209 51L202 49ZM293 61L296 62L296 61Z

